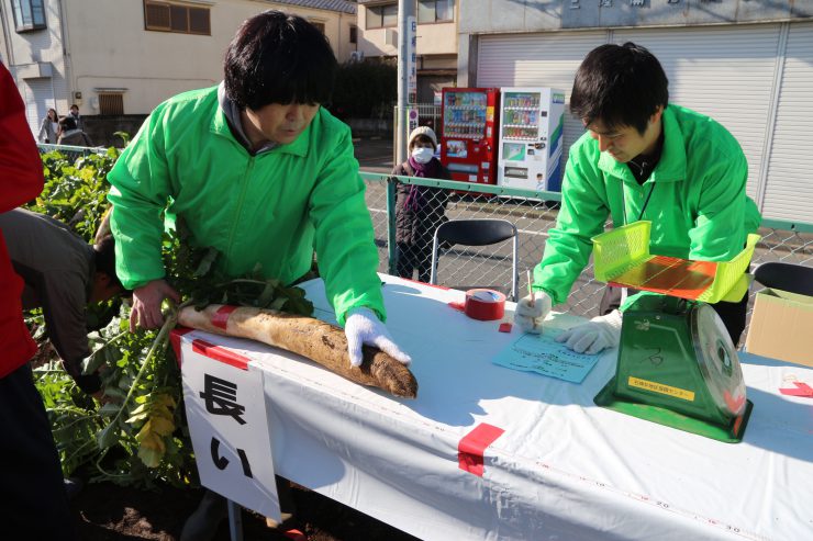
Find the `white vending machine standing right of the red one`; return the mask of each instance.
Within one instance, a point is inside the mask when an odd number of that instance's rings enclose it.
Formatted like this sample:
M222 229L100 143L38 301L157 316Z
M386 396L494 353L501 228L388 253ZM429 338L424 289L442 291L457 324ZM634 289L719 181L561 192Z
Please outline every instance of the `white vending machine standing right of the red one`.
M500 119L498 184L560 191L565 92L503 88Z

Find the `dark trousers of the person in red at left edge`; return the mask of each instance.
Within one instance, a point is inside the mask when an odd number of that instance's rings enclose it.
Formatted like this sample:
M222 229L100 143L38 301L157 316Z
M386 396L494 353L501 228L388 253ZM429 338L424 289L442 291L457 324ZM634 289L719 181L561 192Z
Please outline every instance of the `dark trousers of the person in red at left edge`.
M78 539L51 422L29 363L0 379L0 538Z

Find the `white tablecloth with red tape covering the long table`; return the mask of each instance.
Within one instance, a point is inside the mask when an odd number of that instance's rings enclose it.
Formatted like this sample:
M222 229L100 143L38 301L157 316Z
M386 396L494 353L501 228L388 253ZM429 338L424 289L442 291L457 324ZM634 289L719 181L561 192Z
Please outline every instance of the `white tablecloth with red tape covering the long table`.
M813 539L813 399L778 391L813 385L813 370L742 354L754 412L743 442L722 443L595 406L614 350L581 384L498 367L517 329L449 308L460 292L382 279L414 401L260 343L183 337L261 373L277 474L427 540ZM303 288L330 318L322 282ZM481 424L504 433L478 476L459 467L458 443Z

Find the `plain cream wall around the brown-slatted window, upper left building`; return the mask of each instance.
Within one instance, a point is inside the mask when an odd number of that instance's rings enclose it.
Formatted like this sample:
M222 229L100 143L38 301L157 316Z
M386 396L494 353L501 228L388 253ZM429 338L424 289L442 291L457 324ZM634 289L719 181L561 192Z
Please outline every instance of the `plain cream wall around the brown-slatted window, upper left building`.
M145 114L179 92L216 84L223 78L223 55L240 24L267 9L324 23L339 61L349 57L353 15L252 0L201 3L211 5L211 36L145 31L141 0L70 0L66 18L70 87L82 92L81 113L98 114L91 108L94 88L127 89L124 112Z

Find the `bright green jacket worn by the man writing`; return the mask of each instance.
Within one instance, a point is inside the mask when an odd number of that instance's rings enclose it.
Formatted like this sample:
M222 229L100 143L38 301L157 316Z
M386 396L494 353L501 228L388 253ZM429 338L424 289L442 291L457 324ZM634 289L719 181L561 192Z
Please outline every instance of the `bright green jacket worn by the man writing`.
M759 211L745 194L748 164L734 136L714 120L671 104L662 128L660 160L643 185L626 164L601 153L589 133L570 148L561 210L534 270L534 288L554 304L567 301L588 263L590 238L604 230L608 216L613 227L637 221L650 190L641 219L653 223L651 253L726 261L759 227Z

